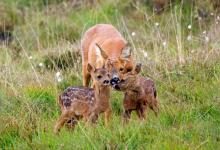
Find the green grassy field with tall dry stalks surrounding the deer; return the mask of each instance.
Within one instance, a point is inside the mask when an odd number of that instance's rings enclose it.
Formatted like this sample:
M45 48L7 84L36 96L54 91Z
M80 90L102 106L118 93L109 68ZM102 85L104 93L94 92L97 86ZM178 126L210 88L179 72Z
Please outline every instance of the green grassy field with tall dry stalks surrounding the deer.
M220 149L220 17L201 5L206 18L187 3L156 15L148 1L1 0L0 32L13 39L0 41L0 149ZM156 82L160 114L123 126L123 94L113 91L109 127L100 117L54 135L56 98L82 85L80 39L97 23L131 43Z

